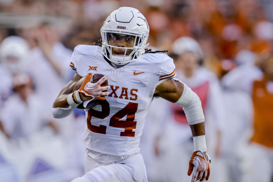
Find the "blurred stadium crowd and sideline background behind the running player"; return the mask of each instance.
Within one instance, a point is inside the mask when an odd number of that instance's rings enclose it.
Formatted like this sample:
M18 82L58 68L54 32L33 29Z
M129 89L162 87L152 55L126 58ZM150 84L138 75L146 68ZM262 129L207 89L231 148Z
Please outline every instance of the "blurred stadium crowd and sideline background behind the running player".
M84 174L85 113L51 107L75 71L78 44L105 18L137 8L148 48L168 50L196 92L212 158L209 181L273 181L273 1L0 0L0 181L70 181ZM154 99L140 149L151 182L191 181L191 130L180 107Z

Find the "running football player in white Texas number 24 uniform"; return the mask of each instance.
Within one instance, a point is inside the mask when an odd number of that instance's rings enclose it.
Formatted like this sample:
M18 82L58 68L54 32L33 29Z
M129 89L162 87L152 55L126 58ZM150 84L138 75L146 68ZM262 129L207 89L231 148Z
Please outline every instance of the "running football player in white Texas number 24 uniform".
M102 100L98 106L85 110L86 173L73 181L147 181L138 145L154 97L184 108L194 140L188 174L193 173L192 181L208 180L210 158L206 154L200 99L174 78L173 59L166 54L145 53L149 34L145 17L135 8L121 7L106 18L101 34L102 48L75 47L71 67L77 73L61 90L52 108L53 116L62 118L80 103L85 106L90 100ZM89 82L96 73L106 76L96 83ZM73 92L76 82L86 75L80 89ZM101 86L107 79L109 85Z

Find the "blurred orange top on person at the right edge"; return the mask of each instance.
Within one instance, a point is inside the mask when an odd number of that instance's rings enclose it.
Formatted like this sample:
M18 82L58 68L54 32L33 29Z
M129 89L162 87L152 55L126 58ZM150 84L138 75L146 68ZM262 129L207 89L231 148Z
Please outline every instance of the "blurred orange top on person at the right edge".
M273 94L267 91L265 78L253 84L253 105L254 135L251 141L273 148Z

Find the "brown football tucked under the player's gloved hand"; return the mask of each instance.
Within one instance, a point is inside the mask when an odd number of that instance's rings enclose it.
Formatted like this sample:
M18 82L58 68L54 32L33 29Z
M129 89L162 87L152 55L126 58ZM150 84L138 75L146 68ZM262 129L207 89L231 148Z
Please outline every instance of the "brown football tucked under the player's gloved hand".
M90 82L96 83L96 82L99 81L100 78L102 78L103 76L104 76L104 75L102 75L102 74L94 74L94 75L92 76L92 80L90 80ZM74 92L75 90L78 90L78 89L82 86L82 83L84 82L85 78L86 78L86 76L80 78L80 80L79 80L79 81L76 83L76 85L74 86L73 92ZM108 80L106 80L104 83L101 84L101 86L106 86L106 85L108 85ZM105 97L105 96L102 96L102 97ZM95 107L95 106L97 106L98 104L100 104L100 102L101 102L101 100L93 100L93 101L89 102L89 103L87 104L86 107L83 107L83 104L80 104L80 105L78 105L77 108L78 108L78 109L90 109L90 108Z

